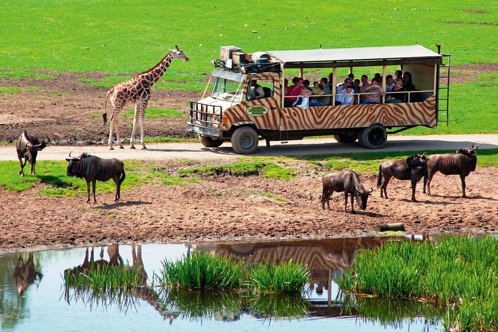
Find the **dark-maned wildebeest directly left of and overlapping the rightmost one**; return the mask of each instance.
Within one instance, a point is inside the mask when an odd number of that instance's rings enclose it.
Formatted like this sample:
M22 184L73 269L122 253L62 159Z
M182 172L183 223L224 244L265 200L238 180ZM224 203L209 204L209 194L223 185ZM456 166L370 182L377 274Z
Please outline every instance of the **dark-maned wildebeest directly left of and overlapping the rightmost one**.
M415 187L427 171L426 159L427 157L424 153L422 155L415 154L406 159L384 161L378 167L377 188L382 185L382 188L380 188L380 197L383 197L383 191L385 198L387 198L387 191L385 189L391 177L394 177L398 180L411 181L411 200L416 202ZM382 178L384 178L383 183Z

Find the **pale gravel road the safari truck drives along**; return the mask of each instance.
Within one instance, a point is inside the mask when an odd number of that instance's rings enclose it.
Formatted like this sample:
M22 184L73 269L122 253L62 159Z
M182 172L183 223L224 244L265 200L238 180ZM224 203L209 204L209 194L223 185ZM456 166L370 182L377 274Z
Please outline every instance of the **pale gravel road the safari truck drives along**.
M369 150L358 144L343 144L333 138L304 139L289 141L282 144L271 142L268 149L265 141L259 142L259 147L252 156L285 156L322 153L345 153L367 151L417 151L425 150L456 150L479 144L480 149L498 148L498 134L469 134L469 135L425 135L425 136L391 136L381 150ZM107 146L48 146L38 153L37 160L60 160L74 154L88 152L101 158L118 159L234 159L236 154L230 143L223 143L219 148L206 148L201 143L150 143L147 150L141 150L140 144L135 144L136 150L125 145L124 149L115 147L109 150ZM17 160L15 146L0 147L0 160Z

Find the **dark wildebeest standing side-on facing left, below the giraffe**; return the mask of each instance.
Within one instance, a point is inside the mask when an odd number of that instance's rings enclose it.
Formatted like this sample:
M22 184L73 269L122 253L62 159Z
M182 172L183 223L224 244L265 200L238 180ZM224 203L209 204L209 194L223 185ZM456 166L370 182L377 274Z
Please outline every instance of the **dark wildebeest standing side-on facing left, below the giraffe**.
M66 158L66 160L69 162L66 169L67 176L76 176L80 179L84 178L87 182L87 203L90 203L90 182L92 182L94 203L97 203L97 199L95 198L95 183L97 180L105 182L110 179L113 179L116 183L116 196L114 200L119 201L121 198L121 184L125 177L122 161L116 158L102 159L88 153L82 153L79 157L71 157L71 152L69 152L69 158Z

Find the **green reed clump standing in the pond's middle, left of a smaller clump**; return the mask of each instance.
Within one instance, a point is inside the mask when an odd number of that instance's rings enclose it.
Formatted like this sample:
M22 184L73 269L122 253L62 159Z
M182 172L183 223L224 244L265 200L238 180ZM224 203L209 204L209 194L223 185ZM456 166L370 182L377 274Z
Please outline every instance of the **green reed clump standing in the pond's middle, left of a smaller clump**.
M243 261L217 257L205 251L194 252L172 262L164 260L162 269L155 275L159 286L186 289L230 289L240 286L243 278Z

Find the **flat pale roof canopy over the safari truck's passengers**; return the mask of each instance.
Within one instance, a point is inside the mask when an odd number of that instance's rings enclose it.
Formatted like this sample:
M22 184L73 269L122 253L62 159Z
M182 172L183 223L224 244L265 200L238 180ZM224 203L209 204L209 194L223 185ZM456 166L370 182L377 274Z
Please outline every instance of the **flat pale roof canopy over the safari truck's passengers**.
M442 56L420 45L267 51L285 68L330 68L442 63Z

